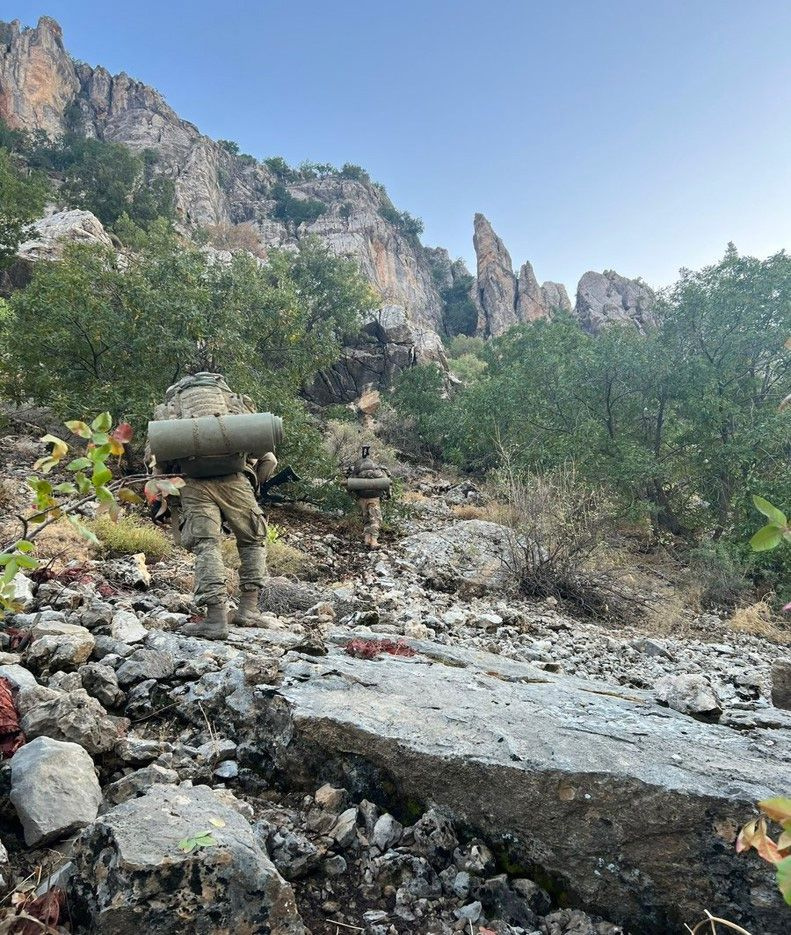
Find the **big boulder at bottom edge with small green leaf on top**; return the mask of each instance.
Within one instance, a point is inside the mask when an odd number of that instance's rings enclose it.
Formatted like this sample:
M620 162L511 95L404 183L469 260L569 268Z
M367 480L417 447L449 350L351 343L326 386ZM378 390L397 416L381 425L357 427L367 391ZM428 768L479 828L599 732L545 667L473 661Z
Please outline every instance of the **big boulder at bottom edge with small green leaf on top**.
M215 844L179 848L203 830ZM248 822L206 786L152 786L97 818L72 860L78 930L306 935L291 887Z

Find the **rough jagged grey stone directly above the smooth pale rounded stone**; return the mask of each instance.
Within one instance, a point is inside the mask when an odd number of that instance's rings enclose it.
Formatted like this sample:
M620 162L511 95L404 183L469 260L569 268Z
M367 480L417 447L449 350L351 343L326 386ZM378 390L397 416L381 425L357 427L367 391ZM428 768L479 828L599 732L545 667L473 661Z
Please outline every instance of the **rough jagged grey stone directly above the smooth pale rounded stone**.
M29 738L72 741L93 756L108 753L118 740L119 725L85 689L28 688L20 692L17 703L22 730Z

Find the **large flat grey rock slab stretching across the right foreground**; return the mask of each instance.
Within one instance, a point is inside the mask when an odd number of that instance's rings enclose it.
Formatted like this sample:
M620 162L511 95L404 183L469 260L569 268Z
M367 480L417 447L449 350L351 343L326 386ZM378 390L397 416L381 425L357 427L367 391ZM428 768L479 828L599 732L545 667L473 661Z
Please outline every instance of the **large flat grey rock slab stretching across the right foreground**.
M739 733L640 691L411 643L411 658L338 648L291 663L276 765L444 808L559 899L631 932L677 931L704 909L787 931L771 870L733 843L758 799L791 786L791 732Z

